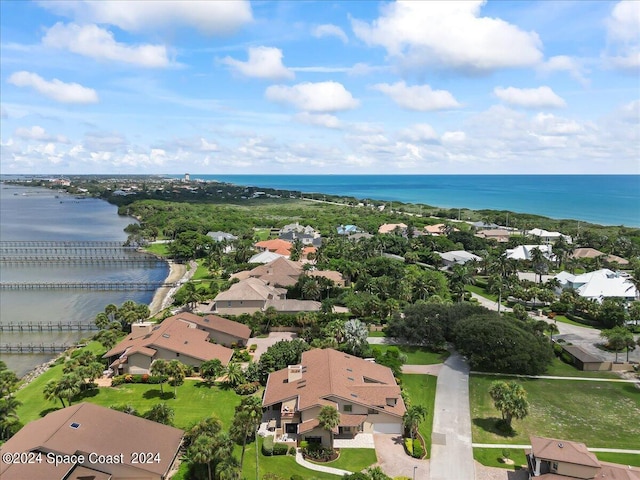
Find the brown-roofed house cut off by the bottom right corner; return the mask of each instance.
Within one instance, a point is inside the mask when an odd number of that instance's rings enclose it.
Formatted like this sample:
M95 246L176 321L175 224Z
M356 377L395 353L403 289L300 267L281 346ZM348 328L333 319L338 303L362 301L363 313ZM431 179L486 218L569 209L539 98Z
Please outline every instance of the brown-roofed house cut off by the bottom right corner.
M526 450L529 479L640 480L640 468L600 462L584 443L530 437Z

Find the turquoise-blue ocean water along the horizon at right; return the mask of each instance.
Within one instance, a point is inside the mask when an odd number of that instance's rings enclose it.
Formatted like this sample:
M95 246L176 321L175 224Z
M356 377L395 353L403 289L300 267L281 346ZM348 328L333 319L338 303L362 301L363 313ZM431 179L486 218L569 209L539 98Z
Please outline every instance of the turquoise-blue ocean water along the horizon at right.
M640 227L640 175L199 175L237 185Z

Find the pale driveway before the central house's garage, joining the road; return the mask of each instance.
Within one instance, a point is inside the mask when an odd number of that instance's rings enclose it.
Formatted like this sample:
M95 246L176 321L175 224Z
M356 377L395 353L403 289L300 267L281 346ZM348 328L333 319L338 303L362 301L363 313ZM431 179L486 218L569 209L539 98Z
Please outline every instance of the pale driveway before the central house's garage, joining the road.
M390 477L408 477L416 480L429 478L429 461L417 460L404 452L402 435L374 433L378 465ZM415 467L415 477L414 477Z

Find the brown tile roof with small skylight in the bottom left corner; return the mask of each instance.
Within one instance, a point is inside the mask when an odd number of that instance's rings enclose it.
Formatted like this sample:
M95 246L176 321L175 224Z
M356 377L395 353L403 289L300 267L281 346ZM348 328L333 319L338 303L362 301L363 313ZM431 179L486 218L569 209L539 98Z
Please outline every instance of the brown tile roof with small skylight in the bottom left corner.
M2 452L57 452L60 454L85 454L95 452L99 455L123 454L125 465L137 468L148 477L149 474L166 476L175 459L184 432L160 423L145 420L126 413L91 403L78 403L71 407L57 410L28 423L3 446ZM133 465L132 453L157 452L158 463L141 463ZM23 467L32 465L7 465L0 462L0 478L2 480L35 480L62 479L70 470L70 465L63 465L64 472L54 465L43 461L36 464L33 471ZM44 466L48 470L43 471ZM94 465L99 470L109 472L109 465ZM66 478L66 477L64 477Z

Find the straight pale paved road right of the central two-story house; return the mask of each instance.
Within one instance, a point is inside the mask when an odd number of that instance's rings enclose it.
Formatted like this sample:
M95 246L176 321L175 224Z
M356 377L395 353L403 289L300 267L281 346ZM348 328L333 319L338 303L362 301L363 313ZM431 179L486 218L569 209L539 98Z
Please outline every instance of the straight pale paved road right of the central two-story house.
M469 367L453 353L438 375L431 435L431 480L475 478L469 413Z

